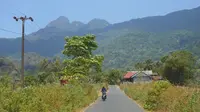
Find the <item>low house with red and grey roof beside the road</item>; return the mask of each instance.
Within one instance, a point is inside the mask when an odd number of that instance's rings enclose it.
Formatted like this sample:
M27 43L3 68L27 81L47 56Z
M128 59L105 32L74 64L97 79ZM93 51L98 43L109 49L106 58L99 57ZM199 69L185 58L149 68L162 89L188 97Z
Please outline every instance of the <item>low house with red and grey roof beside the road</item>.
M128 71L123 77L123 82L151 82L154 80L152 74L152 71Z

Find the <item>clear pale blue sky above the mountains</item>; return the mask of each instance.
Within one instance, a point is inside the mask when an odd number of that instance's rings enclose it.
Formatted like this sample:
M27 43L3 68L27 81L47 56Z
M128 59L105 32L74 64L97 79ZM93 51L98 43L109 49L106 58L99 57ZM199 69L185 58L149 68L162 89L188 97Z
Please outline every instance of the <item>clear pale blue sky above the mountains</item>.
M16 22L13 16L24 14L34 19L25 24L25 33L30 34L59 16L84 23L94 18L118 23L198 6L200 0L0 0L0 37L20 37L21 21Z

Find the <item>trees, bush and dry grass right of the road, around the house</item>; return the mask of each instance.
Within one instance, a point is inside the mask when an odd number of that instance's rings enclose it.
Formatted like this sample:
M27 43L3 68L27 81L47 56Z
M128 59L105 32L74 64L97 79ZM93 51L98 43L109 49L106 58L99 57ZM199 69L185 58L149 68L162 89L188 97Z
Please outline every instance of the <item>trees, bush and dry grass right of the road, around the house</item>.
M160 61L137 63L140 70L153 70L164 80L122 84L120 88L144 109L154 112L199 112L199 62L188 51L174 51Z

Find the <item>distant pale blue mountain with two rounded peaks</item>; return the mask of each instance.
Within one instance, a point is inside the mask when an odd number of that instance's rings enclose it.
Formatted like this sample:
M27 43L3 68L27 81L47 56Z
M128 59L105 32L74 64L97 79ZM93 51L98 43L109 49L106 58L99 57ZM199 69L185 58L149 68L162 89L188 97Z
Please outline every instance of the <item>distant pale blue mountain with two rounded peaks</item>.
M51 39L51 38L63 38L65 36L84 35L87 33L98 32L99 29L104 29L109 26L106 20L93 19L87 24L80 21L73 21L70 23L69 19L60 16L56 20L51 21L45 28L38 30L30 35L26 36L27 40L39 40L39 39Z

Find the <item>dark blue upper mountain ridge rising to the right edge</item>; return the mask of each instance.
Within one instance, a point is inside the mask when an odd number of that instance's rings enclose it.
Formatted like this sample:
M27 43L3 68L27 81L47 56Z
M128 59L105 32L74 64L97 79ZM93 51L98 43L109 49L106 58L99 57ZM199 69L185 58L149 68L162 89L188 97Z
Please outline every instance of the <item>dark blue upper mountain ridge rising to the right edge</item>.
M148 32L169 32L174 30L199 31L200 7L169 13L165 16L152 16L132 19L110 26L110 29L132 29Z

